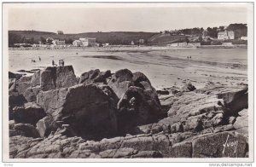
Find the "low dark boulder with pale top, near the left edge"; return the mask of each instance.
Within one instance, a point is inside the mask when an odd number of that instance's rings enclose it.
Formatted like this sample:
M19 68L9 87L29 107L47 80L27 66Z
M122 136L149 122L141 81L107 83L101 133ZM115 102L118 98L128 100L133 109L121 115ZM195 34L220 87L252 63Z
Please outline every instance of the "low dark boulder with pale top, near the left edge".
M25 103L21 107L14 107L13 110L12 116L16 123L37 124L39 119L46 116L44 109L34 102Z

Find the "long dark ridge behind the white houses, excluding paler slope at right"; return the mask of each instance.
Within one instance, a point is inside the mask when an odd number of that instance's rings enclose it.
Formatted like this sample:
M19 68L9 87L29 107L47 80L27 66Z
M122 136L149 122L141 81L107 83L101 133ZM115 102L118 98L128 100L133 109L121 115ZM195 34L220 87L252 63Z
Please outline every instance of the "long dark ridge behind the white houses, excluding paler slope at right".
M36 32L36 31L9 31L9 44L22 41L22 38L32 39L37 43L41 37L53 37L60 40L79 39L79 37L95 37L97 43L110 44L131 44L131 41L138 43L139 39L144 39L145 42L154 32L85 32L78 34L63 34L58 35L54 32ZM22 43L22 42L20 42Z

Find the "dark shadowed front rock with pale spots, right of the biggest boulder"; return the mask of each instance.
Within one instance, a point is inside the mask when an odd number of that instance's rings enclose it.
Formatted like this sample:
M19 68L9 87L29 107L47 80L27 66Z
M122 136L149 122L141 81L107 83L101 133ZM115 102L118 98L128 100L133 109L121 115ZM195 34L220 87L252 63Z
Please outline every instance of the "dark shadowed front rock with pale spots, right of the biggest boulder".
M119 100L119 129L127 131L139 124L148 124L162 114L157 95L152 97L153 95L145 91L142 88L131 86Z

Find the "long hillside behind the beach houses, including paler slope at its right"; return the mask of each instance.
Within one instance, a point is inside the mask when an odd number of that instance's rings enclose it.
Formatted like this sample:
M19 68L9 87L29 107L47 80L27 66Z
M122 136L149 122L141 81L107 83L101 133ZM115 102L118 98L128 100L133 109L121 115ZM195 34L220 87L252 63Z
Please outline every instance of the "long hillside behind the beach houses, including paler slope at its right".
M21 37L32 38L39 41L40 37L53 37L55 39L79 39L79 37L95 37L97 43L110 43L110 44L130 44L131 41L135 43L139 39L148 41L148 44L165 44L182 42L185 36L171 36L170 34L160 34L154 32L86 32L79 34L63 34L58 35L54 32L36 32L36 31L9 31Z

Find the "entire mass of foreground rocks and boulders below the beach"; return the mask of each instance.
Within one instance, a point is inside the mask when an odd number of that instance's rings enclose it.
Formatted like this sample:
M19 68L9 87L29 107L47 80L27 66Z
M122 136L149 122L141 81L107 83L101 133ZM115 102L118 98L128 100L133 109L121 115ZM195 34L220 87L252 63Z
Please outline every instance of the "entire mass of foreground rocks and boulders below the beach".
M61 67L9 80L10 158L248 157L247 85L157 94L142 72Z

